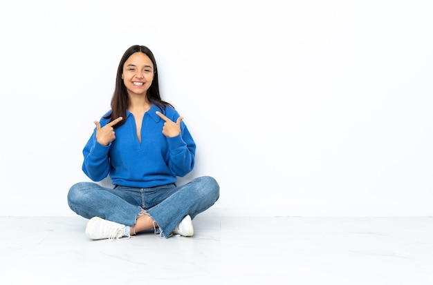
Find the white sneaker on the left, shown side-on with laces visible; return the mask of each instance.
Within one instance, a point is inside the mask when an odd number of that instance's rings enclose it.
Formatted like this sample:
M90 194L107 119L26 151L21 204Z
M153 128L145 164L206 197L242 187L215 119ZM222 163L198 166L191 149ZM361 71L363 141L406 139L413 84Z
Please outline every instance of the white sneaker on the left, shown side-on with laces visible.
M107 221L100 217L93 217L87 222L86 235L89 239L121 239L122 237L131 237L125 232L125 225Z

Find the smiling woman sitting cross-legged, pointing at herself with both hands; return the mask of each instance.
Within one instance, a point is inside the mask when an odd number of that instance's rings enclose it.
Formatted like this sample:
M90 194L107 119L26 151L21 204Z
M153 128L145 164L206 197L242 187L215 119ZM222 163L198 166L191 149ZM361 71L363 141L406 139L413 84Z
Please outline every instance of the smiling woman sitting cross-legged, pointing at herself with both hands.
M154 229L161 237L194 235L192 219L219 198L212 177L176 186L194 168L196 144L174 107L159 94L158 68L145 46L120 60L111 110L84 146L82 170L95 182L68 192L68 205L89 219L90 239L120 239ZM109 176L113 188L97 181Z

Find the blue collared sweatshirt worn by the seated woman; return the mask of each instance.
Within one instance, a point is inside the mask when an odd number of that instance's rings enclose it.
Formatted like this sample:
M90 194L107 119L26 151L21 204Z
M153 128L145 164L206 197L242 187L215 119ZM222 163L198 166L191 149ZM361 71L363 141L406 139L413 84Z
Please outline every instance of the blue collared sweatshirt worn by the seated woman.
M101 181L107 175L113 184L137 188L150 188L171 184L194 168L196 144L187 126L181 121L181 134L165 137L165 121L156 115L160 109L151 105L141 126L141 142L138 141L136 122L127 111L125 124L115 128L116 139L108 146L96 141L96 128L83 149L82 170L93 181ZM161 112L161 111L160 111ZM109 123L104 117L101 128ZM167 106L165 115L176 122L179 114ZM123 118L125 120L125 118Z

